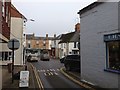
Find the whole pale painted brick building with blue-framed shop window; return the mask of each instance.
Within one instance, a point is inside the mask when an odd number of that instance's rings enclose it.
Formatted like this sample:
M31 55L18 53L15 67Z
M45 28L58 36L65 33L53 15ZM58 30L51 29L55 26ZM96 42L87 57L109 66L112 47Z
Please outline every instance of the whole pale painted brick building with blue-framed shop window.
M120 89L120 2L94 2L78 14L81 79Z

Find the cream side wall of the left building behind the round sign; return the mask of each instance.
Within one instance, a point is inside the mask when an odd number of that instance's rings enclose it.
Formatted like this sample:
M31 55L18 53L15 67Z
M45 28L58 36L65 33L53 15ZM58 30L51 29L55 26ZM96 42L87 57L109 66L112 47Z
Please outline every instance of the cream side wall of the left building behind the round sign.
M23 65L23 19L11 17L11 36L19 40L20 47L15 51L15 65Z

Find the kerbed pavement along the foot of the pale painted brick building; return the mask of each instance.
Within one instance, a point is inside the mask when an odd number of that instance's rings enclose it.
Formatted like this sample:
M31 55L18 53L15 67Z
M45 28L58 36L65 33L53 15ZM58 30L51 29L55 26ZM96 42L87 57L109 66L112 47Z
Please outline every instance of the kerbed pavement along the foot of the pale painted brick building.
M90 82L84 81L80 77L80 73L76 71L66 71L65 67L60 69L61 73L66 76L68 79L72 80L74 83L86 88L88 90L110 90L107 88L101 88L98 85L93 85Z

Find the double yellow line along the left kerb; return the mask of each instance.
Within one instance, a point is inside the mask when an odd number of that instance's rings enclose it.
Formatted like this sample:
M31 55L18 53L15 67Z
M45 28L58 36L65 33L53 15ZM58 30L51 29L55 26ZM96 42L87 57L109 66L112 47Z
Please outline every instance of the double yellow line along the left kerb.
M34 74L35 74L35 77L36 77L36 80L37 80L37 83L38 83L38 87L40 88L40 90L44 90L44 86L42 84L42 81L40 80L37 69L31 63L30 63L30 65L33 68L33 71L34 71Z

